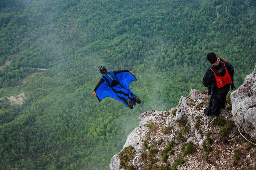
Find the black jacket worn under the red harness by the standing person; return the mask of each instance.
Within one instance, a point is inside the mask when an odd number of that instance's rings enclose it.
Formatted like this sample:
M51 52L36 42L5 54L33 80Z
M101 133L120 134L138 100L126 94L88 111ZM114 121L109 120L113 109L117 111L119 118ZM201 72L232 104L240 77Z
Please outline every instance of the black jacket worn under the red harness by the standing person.
M224 62L224 63L225 63L225 66L228 70L229 76L232 80L231 89L233 90L235 88L234 78L233 78L235 71L234 71L234 68L231 64L229 64L228 62ZM219 70L219 69L221 69L221 64L219 64L217 66L213 65L212 67L215 68L216 70ZM229 85L225 85L224 87L218 88L214 73L210 68L208 68L206 70L206 73L205 73L204 78L203 78L203 84L204 84L205 87L208 88L208 95L228 93L229 88L230 88Z

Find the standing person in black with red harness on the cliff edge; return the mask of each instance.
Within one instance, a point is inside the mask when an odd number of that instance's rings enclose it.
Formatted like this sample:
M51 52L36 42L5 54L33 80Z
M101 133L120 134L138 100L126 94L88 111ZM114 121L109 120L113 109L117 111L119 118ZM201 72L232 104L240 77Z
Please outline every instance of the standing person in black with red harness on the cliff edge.
M224 58L218 58L213 52L207 54L207 60L213 65L208 68L204 78L203 84L208 88L208 95L211 95L209 106L204 110L207 116L218 117L220 108L225 108L226 96L234 86L234 68Z

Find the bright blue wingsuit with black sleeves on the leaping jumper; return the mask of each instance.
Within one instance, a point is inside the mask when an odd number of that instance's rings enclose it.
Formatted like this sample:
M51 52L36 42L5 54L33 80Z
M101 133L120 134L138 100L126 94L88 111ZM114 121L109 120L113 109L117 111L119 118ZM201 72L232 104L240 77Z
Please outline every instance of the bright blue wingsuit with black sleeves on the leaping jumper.
M130 82L136 80L128 70L109 71L102 75L94 91L99 101L105 97L112 97L129 107L128 99L131 99L133 105L136 104L133 97L136 95L129 88Z

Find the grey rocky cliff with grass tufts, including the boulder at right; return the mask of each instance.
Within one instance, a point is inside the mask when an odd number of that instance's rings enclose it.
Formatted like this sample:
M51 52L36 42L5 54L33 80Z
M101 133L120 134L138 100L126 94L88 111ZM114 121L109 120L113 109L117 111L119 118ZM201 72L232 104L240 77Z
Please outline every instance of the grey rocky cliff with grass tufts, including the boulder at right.
M252 115L256 101L255 74L254 70L246 76L245 83L231 95L232 114L240 105L243 107L237 120L247 124L241 127L251 136L255 134L256 120ZM169 112L142 113L139 126L128 135L122 151L112 157L110 169L256 168L256 149L237 132L231 103L227 102L219 118L214 118L204 115L208 101L207 91L191 89ZM248 126L251 130L246 129Z

